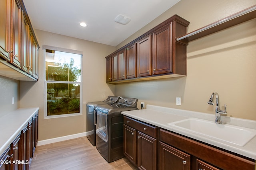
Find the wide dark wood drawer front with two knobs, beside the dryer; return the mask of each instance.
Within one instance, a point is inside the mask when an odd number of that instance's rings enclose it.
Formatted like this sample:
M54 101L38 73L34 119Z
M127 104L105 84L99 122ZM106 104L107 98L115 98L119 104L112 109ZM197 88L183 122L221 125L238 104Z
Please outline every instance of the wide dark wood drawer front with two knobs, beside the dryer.
M152 125L142 123L126 116L124 116L124 124L136 129L137 131L145 133L146 135L156 138L156 127Z

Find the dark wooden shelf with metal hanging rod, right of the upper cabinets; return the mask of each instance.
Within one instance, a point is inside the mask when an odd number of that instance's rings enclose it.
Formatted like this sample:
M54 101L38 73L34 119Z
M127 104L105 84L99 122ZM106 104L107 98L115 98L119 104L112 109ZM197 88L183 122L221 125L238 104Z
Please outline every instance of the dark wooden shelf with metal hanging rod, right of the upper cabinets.
M182 37L178 37L177 41L180 41L182 43L188 43L189 41L204 37L206 35L215 33L228 27L232 27L236 24L248 20L252 20L254 18L256 18L256 5L250 8L246 8L245 10L242 10L226 18L223 18L222 20L218 20L214 23L206 25L205 27L192 31L191 33L187 33Z

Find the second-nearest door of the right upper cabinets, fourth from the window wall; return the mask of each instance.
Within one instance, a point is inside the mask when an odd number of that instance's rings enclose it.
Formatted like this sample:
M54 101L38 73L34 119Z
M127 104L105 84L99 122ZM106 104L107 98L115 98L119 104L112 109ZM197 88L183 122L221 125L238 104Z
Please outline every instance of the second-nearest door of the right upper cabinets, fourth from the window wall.
M148 35L137 42L137 77L151 75L151 35Z

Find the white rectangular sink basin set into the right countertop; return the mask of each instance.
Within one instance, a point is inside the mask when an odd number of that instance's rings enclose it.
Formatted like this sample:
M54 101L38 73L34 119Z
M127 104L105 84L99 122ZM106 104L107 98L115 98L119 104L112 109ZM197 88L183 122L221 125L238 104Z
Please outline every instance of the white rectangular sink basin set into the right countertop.
M239 146L244 146L256 135L256 129L228 124L216 124L214 121L197 118L184 119L168 123L168 125Z

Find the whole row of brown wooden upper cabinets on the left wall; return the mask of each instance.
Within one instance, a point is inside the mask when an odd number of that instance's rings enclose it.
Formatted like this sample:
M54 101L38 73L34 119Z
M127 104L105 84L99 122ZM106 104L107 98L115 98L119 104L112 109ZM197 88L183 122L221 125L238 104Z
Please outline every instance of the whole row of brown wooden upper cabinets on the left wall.
M8 68L4 73L0 72L0 75L16 80L36 81L39 44L24 2L2 0L0 5L0 65Z

